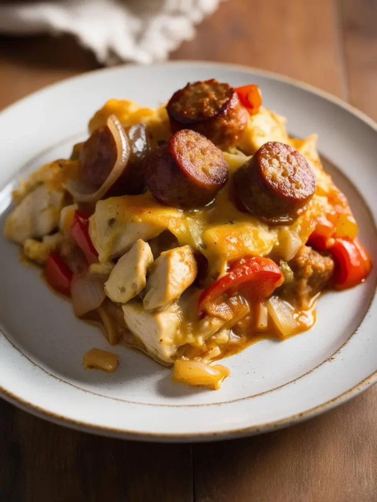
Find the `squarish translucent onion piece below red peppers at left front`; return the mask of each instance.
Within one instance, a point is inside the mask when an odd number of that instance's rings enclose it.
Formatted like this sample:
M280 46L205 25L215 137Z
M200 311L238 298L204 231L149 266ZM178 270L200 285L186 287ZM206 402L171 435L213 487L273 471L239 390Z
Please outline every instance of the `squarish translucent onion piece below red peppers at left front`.
M73 279L71 297L73 310L77 317L96 310L102 305L106 298L105 281L106 277L88 273Z

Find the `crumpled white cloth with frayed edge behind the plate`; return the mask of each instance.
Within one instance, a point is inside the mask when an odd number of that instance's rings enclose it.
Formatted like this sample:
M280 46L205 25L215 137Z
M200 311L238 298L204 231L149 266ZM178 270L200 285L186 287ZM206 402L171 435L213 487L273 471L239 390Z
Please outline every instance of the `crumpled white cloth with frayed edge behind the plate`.
M0 5L0 32L71 33L104 64L152 63L195 36L222 0L55 0Z

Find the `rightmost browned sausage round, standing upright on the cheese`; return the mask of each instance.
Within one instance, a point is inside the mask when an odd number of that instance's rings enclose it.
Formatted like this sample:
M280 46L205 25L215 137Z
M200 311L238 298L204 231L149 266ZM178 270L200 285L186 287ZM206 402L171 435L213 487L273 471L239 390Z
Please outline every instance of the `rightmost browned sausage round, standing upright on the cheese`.
M313 196L316 178L300 152L270 141L236 172L234 186L247 212L268 223L290 223Z

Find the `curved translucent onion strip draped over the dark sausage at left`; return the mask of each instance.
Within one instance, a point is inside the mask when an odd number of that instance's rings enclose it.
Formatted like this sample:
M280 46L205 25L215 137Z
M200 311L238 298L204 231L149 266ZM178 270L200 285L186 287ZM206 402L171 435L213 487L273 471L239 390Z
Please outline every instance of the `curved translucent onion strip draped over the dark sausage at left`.
M107 120L107 126L117 146L118 156L114 167L104 183L97 190L93 186L83 183L82 181L69 180L66 184L66 189L76 202L96 202L101 199L118 180L127 165L131 149L122 124L115 115L110 115Z

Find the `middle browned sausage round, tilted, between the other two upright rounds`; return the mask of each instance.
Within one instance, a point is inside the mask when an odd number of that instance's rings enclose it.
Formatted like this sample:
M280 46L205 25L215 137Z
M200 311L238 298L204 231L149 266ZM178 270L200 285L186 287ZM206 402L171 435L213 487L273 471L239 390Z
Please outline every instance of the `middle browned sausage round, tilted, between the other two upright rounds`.
M175 133L145 158L145 182L162 204L182 208L211 202L228 180L223 153L191 130Z

